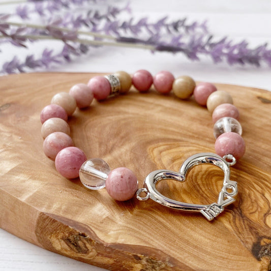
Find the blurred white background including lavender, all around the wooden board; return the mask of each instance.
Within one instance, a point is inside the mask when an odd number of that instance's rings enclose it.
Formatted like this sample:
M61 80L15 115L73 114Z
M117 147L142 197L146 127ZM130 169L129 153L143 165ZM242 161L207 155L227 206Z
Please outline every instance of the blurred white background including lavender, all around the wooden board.
M271 2L267 0L0 0L0 13L10 14L0 17L1 75L20 70L104 73L124 70L132 74L139 69L155 75L168 70L175 76L189 75L196 81L271 91ZM26 24L54 25L62 30L29 29ZM63 27L72 29L71 25L110 37L95 39L106 45L78 46L78 42L63 36ZM23 39L48 33L53 39L35 42ZM94 41L85 34L70 33L70 38ZM130 43L124 47L111 44L124 41ZM161 48L168 51L159 51ZM173 53L176 48L179 50ZM0 255L0 270L103 270L43 250L2 229Z

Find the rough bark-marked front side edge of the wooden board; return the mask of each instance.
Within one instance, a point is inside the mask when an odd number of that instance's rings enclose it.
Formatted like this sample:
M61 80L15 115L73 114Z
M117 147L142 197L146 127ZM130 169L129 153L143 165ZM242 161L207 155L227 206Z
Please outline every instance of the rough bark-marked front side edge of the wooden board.
M12 200L8 200L11 197ZM4 202L0 205L0 217L1 221L5 220L5 223L0 221L0 227L46 250L116 271L193 270L162 250L139 245L105 243L90 227L65 217L43 213L3 189L0 190L0 198ZM7 206L5 203L8 202L13 202L14 207ZM12 216L10 212L13 212ZM31 213L31 227L25 226L25 212ZM12 226L15 225L14 218L16 223L20 222L20 228ZM29 217L27 218L29 220Z

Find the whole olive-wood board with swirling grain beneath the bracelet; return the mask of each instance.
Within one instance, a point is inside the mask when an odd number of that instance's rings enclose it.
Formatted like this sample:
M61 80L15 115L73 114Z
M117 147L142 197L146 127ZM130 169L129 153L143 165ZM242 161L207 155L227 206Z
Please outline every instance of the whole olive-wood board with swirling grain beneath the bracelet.
M40 247L110 270L269 270L271 257L271 93L216 84L240 110L247 144L232 168L237 200L213 222L151 200L115 202L61 177L42 152L40 111L57 92L94 74L0 77L0 226ZM193 99L151 90L95 102L69 120L88 158L136 172L177 171L189 156L214 152L212 118ZM197 166L185 183L161 182L165 195L217 200L223 172Z

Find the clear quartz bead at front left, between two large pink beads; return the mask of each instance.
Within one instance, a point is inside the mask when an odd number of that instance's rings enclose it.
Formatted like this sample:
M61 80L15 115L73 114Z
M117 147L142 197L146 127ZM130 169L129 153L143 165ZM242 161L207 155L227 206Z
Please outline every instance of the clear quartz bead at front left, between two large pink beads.
M105 187L105 180L110 172L109 165L102 159L85 161L79 171L81 183L88 189L99 190Z

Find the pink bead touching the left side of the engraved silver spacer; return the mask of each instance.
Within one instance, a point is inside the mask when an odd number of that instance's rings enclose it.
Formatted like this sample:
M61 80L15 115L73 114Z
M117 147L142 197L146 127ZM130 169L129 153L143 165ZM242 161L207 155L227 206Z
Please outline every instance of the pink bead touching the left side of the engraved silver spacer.
M103 76L95 76L91 78L87 85L91 88L94 98L97 100L104 100L110 95L111 85Z

